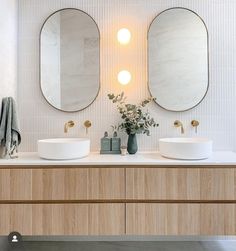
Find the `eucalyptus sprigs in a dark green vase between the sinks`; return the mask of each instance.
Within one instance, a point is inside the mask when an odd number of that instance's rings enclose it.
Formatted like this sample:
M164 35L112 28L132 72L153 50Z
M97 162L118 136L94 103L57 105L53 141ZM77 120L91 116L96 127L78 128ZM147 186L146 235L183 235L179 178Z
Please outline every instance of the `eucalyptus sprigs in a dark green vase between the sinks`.
M149 97L138 105L127 104L123 92L118 95L108 94L108 98L117 104L117 109L123 119L123 122L118 125L118 128L128 134L127 151L129 154L135 154L138 151L136 134L146 134L150 136L150 127L158 126L149 112L143 111L143 108L153 101L154 98Z

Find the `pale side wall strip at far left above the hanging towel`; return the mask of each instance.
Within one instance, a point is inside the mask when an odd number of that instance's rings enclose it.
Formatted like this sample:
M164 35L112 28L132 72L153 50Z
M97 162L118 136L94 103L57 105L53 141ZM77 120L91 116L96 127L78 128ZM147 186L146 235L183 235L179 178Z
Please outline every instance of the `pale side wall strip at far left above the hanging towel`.
M17 0L0 4L0 108L5 96L16 98L17 90Z

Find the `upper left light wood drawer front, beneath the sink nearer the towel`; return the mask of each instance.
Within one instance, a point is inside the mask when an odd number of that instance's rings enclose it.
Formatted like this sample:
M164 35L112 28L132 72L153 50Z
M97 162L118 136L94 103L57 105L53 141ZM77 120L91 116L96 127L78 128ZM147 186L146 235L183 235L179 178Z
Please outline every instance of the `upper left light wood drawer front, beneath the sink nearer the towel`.
M0 200L106 200L125 198L124 168L0 170Z

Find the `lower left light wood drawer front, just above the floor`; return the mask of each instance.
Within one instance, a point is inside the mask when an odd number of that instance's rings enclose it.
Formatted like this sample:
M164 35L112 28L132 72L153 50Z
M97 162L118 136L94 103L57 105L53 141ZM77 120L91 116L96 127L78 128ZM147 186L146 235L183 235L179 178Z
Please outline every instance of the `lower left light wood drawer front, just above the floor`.
M124 204L0 205L0 235L122 235Z

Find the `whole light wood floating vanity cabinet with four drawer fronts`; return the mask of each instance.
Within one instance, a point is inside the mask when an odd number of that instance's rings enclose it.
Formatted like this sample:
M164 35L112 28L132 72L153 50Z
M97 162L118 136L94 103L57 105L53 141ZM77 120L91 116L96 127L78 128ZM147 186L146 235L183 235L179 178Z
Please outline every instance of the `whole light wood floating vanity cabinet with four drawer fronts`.
M0 168L0 234L235 235L236 166Z

